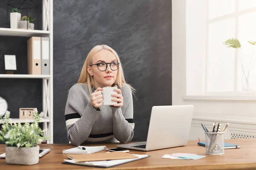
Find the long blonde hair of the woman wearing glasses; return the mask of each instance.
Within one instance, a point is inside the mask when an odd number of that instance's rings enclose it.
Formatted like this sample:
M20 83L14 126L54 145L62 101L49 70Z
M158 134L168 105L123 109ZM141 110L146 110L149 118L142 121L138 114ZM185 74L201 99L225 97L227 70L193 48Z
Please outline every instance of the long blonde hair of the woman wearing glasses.
M94 82L93 82L93 77L87 71L87 66L92 64L93 56L98 51L103 50L103 49L111 51L116 56L117 62L119 62L119 68L117 70L117 77L116 77L116 81L114 82L114 84L119 86L120 88L122 88L122 86L124 84L127 84L125 82L125 76L124 76L124 72L123 72L123 69L122 69L122 64L120 62L120 59L119 59L116 51L114 51L113 48L109 47L108 45L96 45L95 47L93 47L91 49L91 51L87 55L87 57L86 57L86 59L84 61L83 68L81 70L81 74L80 74L79 80L77 82L77 83L85 83L85 84L87 84L88 88L89 88L89 91L90 91L90 94L92 93L92 88L94 87ZM127 84L127 85L131 88L131 90L133 92L135 91L134 88L131 87L131 85L129 85L129 84Z

